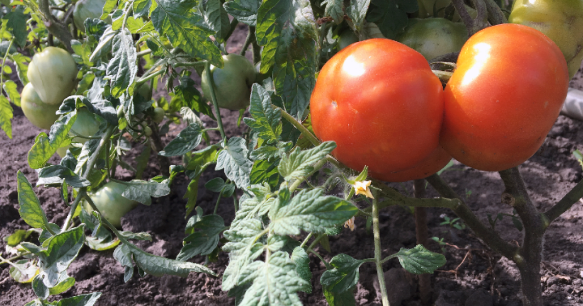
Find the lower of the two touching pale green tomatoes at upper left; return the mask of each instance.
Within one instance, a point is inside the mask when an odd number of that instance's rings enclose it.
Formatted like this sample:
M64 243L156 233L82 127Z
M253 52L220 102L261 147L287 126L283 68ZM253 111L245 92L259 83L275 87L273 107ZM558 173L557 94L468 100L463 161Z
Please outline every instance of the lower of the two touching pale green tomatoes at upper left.
M38 94L34 91L31 83L28 83L22 89L20 94L20 107L30 123L41 129L50 129L55 120L59 118L56 112L59 105L50 105L40 100Z

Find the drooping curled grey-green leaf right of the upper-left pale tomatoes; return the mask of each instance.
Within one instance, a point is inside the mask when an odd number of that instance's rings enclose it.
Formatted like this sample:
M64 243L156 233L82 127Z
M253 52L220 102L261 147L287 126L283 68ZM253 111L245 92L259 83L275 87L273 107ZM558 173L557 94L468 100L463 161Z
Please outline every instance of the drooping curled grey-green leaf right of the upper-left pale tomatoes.
M138 55L132 34L127 29L115 34L112 43L113 58L107 64L106 76L110 78L111 94L118 98L134 83Z

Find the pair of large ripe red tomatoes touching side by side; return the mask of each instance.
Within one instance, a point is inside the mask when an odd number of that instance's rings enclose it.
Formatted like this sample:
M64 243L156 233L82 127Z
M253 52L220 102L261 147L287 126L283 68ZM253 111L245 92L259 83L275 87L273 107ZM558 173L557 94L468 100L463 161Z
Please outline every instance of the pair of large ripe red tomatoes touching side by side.
M346 47L319 73L312 128L336 142L346 166L384 181L428 177L451 157L469 167L518 166L559 116L569 76L563 54L538 30L488 27L463 46L442 89L419 52L388 39Z

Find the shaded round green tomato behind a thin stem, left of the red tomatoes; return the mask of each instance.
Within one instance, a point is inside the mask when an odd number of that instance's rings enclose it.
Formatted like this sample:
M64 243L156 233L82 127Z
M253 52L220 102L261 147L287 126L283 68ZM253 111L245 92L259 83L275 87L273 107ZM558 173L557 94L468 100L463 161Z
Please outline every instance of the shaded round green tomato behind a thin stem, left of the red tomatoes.
M222 69L210 66L213 89L215 90L219 107L227 110L242 110L249 105L251 85L255 82L255 67L242 55L223 55ZM202 93L211 101L210 84L206 78L206 70L202 73Z

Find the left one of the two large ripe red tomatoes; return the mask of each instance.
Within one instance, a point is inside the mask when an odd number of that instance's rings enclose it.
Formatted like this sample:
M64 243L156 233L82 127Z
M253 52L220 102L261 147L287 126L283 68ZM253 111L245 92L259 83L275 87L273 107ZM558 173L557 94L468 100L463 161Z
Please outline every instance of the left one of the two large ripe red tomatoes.
M419 52L374 38L344 48L319 73L312 128L336 142L346 166L383 174L405 170L437 147L443 90Z

